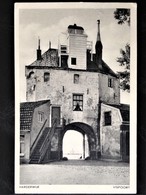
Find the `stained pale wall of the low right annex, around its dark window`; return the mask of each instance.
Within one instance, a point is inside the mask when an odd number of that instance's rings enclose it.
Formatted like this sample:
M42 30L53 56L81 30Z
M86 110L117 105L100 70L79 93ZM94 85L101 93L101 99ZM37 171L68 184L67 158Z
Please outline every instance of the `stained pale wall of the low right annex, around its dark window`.
M105 125L104 112L111 111L111 125ZM101 155L120 158L120 125L122 118L117 108L101 104L100 142Z

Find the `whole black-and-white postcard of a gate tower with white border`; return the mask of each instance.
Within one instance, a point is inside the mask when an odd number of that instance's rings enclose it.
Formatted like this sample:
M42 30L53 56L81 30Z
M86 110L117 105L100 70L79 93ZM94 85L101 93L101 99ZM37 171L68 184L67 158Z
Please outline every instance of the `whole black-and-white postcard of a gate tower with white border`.
M15 193L136 193L136 12L15 4Z

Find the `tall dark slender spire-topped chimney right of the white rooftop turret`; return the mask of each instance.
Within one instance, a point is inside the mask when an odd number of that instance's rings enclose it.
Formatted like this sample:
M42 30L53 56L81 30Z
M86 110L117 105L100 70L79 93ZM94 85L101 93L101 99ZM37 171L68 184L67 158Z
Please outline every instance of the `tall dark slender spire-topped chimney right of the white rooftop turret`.
M100 20L97 20L97 39L95 44L95 51L96 51L96 63L98 68L102 68L102 43L100 37Z

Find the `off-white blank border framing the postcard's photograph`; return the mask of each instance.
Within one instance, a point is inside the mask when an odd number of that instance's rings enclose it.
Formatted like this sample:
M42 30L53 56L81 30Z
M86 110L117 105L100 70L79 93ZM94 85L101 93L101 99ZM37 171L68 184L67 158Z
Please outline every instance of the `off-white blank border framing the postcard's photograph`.
M19 10L20 9L131 9L131 95L130 95L130 185L20 185L20 85L19 85ZM136 165L137 165L137 12L135 3L15 3L15 193L136 193Z

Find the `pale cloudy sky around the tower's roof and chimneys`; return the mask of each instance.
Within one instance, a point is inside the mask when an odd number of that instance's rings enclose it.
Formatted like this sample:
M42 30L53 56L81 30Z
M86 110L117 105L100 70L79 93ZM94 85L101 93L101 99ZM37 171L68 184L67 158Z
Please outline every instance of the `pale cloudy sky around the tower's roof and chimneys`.
M87 40L93 41L95 48L97 36L97 20L100 20L101 41L103 44L103 60L114 72L121 70L117 57L120 49L130 43L130 27L127 24L118 25L114 19L116 8L99 6L73 6L71 8L57 7L19 10L19 71L20 71L20 101L26 101L25 65L36 60L38 37L41 40L41 50L44 53L49 48L58 48L58 40L69 25L82 26L88 35ZM129 103L130 94L121 92L121 102Z

